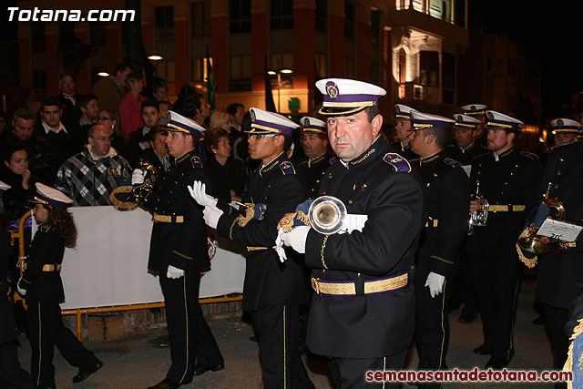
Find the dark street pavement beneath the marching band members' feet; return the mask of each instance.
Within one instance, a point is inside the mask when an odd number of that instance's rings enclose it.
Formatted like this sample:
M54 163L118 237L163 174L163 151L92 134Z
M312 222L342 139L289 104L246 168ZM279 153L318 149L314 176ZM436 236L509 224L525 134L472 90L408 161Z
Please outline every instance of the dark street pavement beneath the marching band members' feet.
M535 312L536 281L533 276L523 279L518 294L517 321L515 325L516 355L507 367L511 370L550 370L552 366L551 347L544 326L535 325L532 320ZM482 323L479 317L471 323L457 322L459 311L450 313L451 342L447 353L447 365L450 369L471 370L484 368L487 356L476 355L472 350L483 341ZM194 377L185 388L261 388L261 366L258 356L258 344L250 341L253 335L251 325L241 322L240 314L214 315L209 318L212 332L217 338L220 350L225 358L226 367L220 372L206 373ZM30 367L30 346L21 335L22 347L19 348L20 362L28 370ZM55 354L56 385L58 388L93 389L93 388L146 388L157 384L164 378L169 367L169 348L166 327L157 324L148 330L128 335L123 340L98 342L86 341L84 344L93 350L104 366L86 381L72 384L71 377L77 369L66 363L60 353ZM309 354L303 357L304 363L317 388L333 388L328 375L325 359ZM406 370L415 370L417 356L412 347L407 357ZM411 388L403 384L404 389ZM446 389L454 388L552 388L553 384L444 384Z

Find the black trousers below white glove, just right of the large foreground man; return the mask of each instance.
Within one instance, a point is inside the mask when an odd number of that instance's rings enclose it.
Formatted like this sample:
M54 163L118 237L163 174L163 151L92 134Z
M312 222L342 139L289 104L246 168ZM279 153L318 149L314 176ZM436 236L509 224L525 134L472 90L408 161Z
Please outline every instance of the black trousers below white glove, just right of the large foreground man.
M446 370L445 355L449 345L448 301L451 288L444 282L443 292L431 297L425 278L415 278L415 345L419 354L418 370ZM441 384L422 387L439 388Z

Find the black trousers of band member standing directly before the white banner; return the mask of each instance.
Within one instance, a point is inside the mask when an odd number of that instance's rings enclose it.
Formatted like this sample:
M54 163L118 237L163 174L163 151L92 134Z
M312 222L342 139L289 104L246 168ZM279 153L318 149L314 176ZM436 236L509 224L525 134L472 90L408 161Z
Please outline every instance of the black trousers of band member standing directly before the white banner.
M210 367L225 363L200 310L200 271L187 270L179 279L169 279L165 271L160 271L159 282L166 303L172 359L166 378L189 384L195 363Z

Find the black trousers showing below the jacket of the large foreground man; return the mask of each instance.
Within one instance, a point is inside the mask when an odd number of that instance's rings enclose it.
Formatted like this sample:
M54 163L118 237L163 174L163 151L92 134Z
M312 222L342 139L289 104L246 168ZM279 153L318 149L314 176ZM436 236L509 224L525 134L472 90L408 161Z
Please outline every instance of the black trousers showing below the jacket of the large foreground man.
M328 367L336 389L396 389L399 383L366 382L367 371L399 371L403 370L407 350L383 358L354 359L330 358Z

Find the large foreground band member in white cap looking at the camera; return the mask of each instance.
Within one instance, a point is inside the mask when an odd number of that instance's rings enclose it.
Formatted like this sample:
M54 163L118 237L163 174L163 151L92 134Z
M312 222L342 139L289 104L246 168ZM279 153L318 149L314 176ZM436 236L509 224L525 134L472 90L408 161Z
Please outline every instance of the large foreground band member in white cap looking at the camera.
M326 170L319 194L338 198L365 223L348 233L302 226L282 234L312 268L307 345L330 357L336 387L397 387L367 382L365 373L402 369L413 338L422 189L407 160L381 137L382 87L342 78L322 79L316 87L339 159Z

